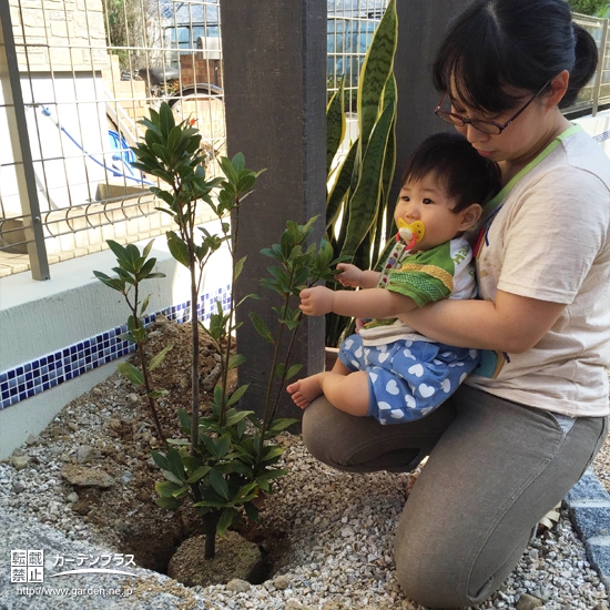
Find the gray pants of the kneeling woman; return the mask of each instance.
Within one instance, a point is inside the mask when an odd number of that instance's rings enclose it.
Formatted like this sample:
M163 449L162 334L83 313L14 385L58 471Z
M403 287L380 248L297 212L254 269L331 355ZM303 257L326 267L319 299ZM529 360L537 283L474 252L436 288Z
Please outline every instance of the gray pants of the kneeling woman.
M406 472L430 456L394 549L404 591L430 608L476 606L494 593L607 431L606 417L581 417L562 428L548 411L467 386L409 424L382 426L324 397L303 418L309 451L339 470Z

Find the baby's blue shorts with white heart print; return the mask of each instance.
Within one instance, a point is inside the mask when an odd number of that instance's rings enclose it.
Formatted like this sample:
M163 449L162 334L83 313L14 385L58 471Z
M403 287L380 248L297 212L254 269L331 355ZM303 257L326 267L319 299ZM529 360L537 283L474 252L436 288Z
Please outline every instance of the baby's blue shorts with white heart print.
M404 339L372 347L352 335L343 342L339 359L349 370L368 375L368 415L380 424L404 424L447 400L477 366L479 352Z

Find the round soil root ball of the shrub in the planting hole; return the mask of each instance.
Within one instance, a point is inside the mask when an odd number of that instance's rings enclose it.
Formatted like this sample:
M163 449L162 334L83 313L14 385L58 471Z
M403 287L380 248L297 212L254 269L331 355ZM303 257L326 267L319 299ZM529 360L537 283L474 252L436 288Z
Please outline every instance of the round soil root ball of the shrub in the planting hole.
M261 550L235 531L216 539L216 556L204 559L205 536L189 538L177 549L167 567L167 576L187 587L223 584L231 580L247 580L260 569Z

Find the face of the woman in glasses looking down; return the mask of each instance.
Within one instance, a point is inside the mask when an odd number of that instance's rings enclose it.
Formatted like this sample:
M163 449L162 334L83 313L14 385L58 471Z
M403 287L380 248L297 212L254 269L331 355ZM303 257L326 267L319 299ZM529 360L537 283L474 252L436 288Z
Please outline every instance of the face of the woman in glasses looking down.
M515 93L519 94L519 102L515 108L499 114L470 109L460 101L459 94L453 93L449 96L451 112L468 119L495 121L505 124L528 103L532 95L529 91ZM491 159L497 163L508 162L515 165L526 165L555 138L558 114L557 109L547 102L546 96L538 96L497 135L484 133L468 123L464 126L456 126L456 129L468 139L481 156Z

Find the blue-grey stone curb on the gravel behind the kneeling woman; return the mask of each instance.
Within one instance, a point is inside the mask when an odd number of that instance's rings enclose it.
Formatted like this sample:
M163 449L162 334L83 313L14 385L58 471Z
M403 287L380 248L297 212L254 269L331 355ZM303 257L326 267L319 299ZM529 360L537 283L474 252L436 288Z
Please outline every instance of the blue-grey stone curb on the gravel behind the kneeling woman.
M610 591L610 494L589 467L563 501L589 562Z

